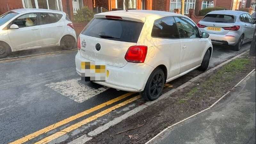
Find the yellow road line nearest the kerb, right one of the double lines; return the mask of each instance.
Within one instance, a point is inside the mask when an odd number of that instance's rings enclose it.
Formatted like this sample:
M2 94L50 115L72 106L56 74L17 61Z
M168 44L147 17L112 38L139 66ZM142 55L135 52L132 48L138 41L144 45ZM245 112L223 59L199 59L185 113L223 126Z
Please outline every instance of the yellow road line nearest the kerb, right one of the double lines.
M66 133L68 133L68 132L71 132L71 131L73 131L73 130L79 128L80 126L82 126L82 125L84 125L84 124L87 124L87 123L89 123L89 122L91 122L91 121L93 121L93 120L95 120L95 119L97 119L97 118L99 118L99 117L101 117L101 116L104 116L104 115L110 113L111 111L113 111L113 110L115 110L115 109L117 109L117 108L120 108L120 107L122 107L122 106L125 106L125 105L127 105L128 103L131 103L131 102L133 102L133 101L135 101L135 100L138 100L138 99L140 99L140 98L141 98L141 96L138 95L138 96L135 96L135 97L133 97L133 98L131 98L131 99L129 99L129 100L125 100L124 102L121 102L121 103L119 103L119 104L117 104L117 105L115 105L115 106L113 106L113 107L111 107L111 108L108 108L108 109L106 109L106 110L103 110L103 111L101 111L100 113L98 113L98 114L96 114L96 115L94 115L94 116L88 117L88 118L82 120L81 122L78 122L78 123L76 123L76 124L73 124L73 125L71 125L71 126L65 128L65 129L63 129L63 130L61 130L61 131L59 131L59 132L56 132L56 133L54 133L54 134L52 134L52 135L50 135L50 136L48 136L48 137L46 137L46 138L44 138L44 139L38 141L38 142L36 142L35 144L45 144L45 143L48 143L48 142L50 142L50 141L52 141L52 140L54 140L54 139L56 139L56 138L59 138L60 136L66 134Z

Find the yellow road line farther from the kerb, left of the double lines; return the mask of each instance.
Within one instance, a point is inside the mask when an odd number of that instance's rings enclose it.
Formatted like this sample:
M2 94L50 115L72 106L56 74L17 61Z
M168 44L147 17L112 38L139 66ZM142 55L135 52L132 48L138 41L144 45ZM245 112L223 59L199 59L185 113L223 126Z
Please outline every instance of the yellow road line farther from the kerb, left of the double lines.
M27 136L25 136L23 138L20 138L19 140L11 142L10 144L21 144L21 143L24 143L24 142L26 142L28 140L31 140L31 139L33 139L33 138L35 138L35 137L37 137L37 136L39 136L39 135L41 135L41 134L43 134L45 132L49 132L49 131L51 131L51 130L59 127L59 126L62 126L64 124L67 124L67 123L69 123L69 122L71 122L71 121L73 121L73 120L75 120L77 118L80 118L82 116L88 115L88 114L90 114L90 113L92 113L92 112L94 112L96 110L99 110L100 108L106 107L106 106L108 106L108 105L110 105L110 104L112 104L114 102L117 102L117 101L122 100L122 99L124 99L124 98L126 98L128 96L131 96L134 93L135 92L128 92L128 93L126 93L124 95L121 95L121 96L115 98L115 99L109 100L109 101L104 102L104 103L102 103L102 104L100 104L98 106L95 106L93 108L85 110L85 111L83 111L83 112L81 112L79 114L76 114L74 116L68 117L68 118L66 118L66 119L64 119L64 120L62 120L62 121L60 121L58 123L52 124L50 126L47 126L47 127L43 128L43 129L37 131L37 132L31 133L31 134L29 134L29 135L27 135Z

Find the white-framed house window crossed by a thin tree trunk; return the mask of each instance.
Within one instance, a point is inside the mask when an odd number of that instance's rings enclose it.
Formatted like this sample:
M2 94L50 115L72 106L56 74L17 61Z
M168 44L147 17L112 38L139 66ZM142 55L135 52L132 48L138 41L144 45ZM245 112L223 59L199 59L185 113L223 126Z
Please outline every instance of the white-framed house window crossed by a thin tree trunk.
M196 0L185 0L184 13L188 14L189 9L195 9ZM174 12L174 9L181 9L181 0L171 0L170 12Z

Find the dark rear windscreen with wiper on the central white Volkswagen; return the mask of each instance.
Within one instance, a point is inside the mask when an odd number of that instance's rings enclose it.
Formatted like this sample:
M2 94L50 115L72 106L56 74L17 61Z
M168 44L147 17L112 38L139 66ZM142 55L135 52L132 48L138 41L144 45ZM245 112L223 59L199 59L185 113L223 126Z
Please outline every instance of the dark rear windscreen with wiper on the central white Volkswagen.
M87 25L82 35L110 40L137 43L143 27L142 22L95 18Z

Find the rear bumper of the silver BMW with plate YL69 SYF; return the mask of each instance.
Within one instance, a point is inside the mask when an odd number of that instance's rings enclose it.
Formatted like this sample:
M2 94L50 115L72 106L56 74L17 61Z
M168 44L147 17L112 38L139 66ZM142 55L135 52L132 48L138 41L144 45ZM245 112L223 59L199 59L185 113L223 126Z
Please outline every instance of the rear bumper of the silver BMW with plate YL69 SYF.
M209 38L212 40L212 44L222 44L222 45L236 45L240 36L237 34L209 34Z

